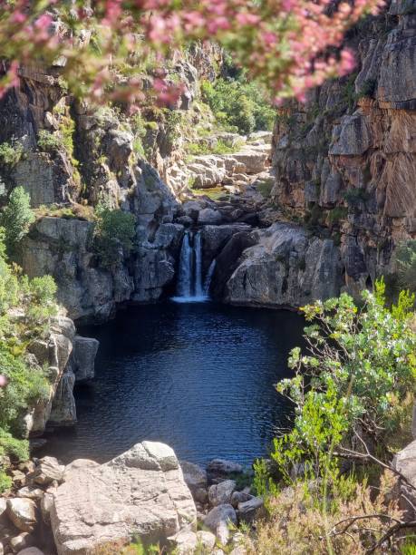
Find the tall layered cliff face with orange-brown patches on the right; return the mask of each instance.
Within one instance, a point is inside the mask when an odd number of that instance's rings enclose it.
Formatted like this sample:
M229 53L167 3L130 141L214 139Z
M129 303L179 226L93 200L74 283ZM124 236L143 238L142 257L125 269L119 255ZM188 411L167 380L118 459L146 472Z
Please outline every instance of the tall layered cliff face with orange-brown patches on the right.
M415 36L416 6L393 2L363 25L359 73L276 122L273 200L315 235L331 233L352 291L391 272L394 247L416 234Z

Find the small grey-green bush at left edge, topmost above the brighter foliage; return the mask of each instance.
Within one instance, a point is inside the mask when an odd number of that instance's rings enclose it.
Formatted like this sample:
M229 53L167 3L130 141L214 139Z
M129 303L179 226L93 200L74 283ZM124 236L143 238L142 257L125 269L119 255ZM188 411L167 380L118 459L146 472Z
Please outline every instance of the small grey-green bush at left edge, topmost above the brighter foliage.
M9 201L0 215L0 224L5 228L5 245L9 255L29 231L34 222L34 212L30 208L30 196L23 187L16 187L10 193Z

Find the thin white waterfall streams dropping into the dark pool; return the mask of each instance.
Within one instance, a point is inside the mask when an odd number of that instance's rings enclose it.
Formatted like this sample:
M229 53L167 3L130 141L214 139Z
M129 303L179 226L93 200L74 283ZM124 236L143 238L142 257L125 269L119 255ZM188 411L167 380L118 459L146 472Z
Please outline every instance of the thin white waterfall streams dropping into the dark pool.
M207 301L214 268L215 261L211 263L203 282L201 232L186 231L180 248L177 295L172 300L179 303Z

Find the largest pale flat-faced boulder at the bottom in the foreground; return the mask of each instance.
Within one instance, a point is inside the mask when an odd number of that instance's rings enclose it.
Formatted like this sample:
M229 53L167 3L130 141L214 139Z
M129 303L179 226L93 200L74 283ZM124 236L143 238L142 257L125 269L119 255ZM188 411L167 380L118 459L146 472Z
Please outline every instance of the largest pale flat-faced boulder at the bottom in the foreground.
M73 464L50 517L58 554L87 555L133 536L164 542L194 530L197 510L173 450L143 442L110 463Z

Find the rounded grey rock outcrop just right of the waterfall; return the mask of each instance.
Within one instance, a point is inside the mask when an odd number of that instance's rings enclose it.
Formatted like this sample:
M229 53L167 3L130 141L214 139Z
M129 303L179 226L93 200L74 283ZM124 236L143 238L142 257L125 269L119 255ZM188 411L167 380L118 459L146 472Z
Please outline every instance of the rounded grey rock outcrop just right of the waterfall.
M252 237L256 244L244 250L227 280L228 302L299 307L337 295L342 265L332 239L311 238L305 229L283 223L254 231Z

